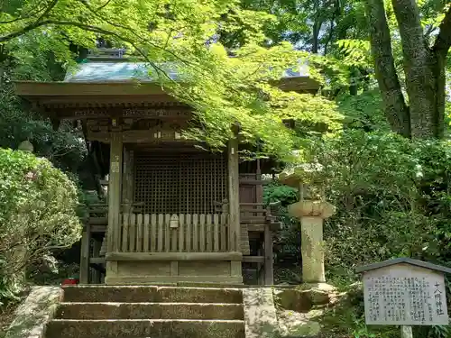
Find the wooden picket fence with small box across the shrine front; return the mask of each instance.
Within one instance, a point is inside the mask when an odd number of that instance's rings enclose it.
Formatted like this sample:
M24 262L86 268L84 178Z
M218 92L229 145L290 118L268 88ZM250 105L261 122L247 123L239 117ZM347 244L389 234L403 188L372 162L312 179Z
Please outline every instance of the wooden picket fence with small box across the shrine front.
M124 213L117 247L121 252L230 251L227 215Z

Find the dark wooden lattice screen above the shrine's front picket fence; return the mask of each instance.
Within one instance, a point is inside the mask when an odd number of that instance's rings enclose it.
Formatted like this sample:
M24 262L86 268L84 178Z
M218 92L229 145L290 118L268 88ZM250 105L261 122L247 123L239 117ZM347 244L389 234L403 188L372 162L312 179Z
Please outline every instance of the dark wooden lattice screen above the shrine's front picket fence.
M214 214L227 196L223 154L137 151L134 201L149 214Z

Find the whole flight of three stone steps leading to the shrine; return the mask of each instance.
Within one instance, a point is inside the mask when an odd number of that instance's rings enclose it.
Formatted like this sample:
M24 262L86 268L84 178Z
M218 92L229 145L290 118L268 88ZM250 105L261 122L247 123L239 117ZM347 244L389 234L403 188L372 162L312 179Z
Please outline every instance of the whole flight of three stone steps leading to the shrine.
M231 288L65 287L46 338L244 338Z

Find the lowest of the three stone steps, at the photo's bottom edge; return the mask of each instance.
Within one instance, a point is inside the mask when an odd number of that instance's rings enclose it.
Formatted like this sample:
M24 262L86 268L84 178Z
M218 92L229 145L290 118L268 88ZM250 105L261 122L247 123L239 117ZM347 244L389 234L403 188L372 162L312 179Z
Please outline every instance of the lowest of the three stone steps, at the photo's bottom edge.
M245 338L241 320L55 319L46 338Z

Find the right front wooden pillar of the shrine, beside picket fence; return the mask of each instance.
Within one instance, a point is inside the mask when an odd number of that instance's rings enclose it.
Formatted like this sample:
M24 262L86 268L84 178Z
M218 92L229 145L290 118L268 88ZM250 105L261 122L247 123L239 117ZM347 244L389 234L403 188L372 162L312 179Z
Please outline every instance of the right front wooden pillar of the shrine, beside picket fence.
M239 195L239 168L238 139L229 141L228 144L228 200L229 200L229 225L230 251L241 251L240 229L240 195Z

